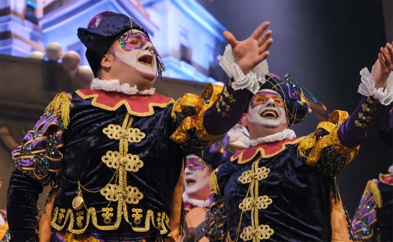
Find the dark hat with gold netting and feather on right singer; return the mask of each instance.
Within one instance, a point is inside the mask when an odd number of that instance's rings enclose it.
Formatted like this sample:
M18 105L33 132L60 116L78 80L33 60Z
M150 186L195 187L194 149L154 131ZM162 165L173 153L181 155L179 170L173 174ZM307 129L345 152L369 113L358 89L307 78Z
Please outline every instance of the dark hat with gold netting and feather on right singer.
M289 73L285 75L286 82L271 73L267 74L265 79L266 82L259 89L271 89L281 95L289 125L305 120L311 110L320 120L327 120L326 115L329 113L327 108L318 102L303 86L298 84ZM306 98L304 92L310 98Z

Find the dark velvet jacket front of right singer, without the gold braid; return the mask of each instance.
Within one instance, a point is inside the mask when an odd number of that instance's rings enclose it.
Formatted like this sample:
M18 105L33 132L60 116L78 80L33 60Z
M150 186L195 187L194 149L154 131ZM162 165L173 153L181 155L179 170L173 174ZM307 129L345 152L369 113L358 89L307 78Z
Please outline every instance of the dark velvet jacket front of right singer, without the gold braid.
M259 167L270 168L267 178L259 181L259 196L267 195L272 199L272 204L259 210L259 224L266 224L274 230L268 241L330 241L331 177L306 165L305 158L298 158L296 153L297 145L287 145L279 155L259 161ZM241 215L239 204L250 185L242 184L238 178L250 170L258 158L260 155L241 165L228 161L217 173L233 241ZM251 226L250 215L250 211L243 213L240 233L244 227Z

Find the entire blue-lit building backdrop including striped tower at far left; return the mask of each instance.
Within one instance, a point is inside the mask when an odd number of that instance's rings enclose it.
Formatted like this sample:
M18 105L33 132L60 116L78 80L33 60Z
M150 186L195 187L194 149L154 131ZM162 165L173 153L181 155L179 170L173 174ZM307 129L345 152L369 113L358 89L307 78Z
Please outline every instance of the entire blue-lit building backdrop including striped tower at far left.
M27 57L50 42L76 51L88 65L78 27L103 11L130 16L149 32L165 64L163 76L198 82L221 80L216 56L224 26L196 0L2 0L0 54Z

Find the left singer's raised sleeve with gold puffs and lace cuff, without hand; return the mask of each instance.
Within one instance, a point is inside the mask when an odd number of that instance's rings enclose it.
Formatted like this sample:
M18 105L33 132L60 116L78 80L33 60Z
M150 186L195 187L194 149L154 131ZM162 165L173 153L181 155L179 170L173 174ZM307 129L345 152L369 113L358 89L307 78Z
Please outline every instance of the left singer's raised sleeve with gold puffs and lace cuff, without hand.
M204 149L239 122L268 73L264 60L244 75L232 56L230 45L218 58L229 77L224 86L208 84L202 95L186 93L173 105L172 117L178 128L171 140L180 144L184 155Z

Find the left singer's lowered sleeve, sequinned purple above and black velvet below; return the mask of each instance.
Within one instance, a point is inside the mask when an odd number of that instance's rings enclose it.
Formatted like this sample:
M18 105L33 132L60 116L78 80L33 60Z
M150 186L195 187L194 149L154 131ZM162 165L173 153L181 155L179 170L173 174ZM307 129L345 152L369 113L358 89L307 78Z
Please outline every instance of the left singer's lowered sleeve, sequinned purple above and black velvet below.
M42 186L57 186L63 155L63 132L69 122L71 95L59 93L46 108L33 130L24 136L22 146L12 152L16 171L7 193L9 230L13 241L36 241L37 199Z

